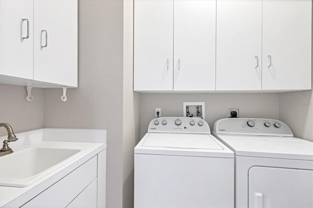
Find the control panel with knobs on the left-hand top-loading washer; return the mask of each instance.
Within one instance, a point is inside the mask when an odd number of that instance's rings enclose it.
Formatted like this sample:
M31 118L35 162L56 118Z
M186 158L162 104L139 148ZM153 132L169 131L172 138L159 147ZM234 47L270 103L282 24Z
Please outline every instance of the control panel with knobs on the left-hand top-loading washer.
M209 125L203 119L190 117L161 117L153 119L148 132L210 134Z

